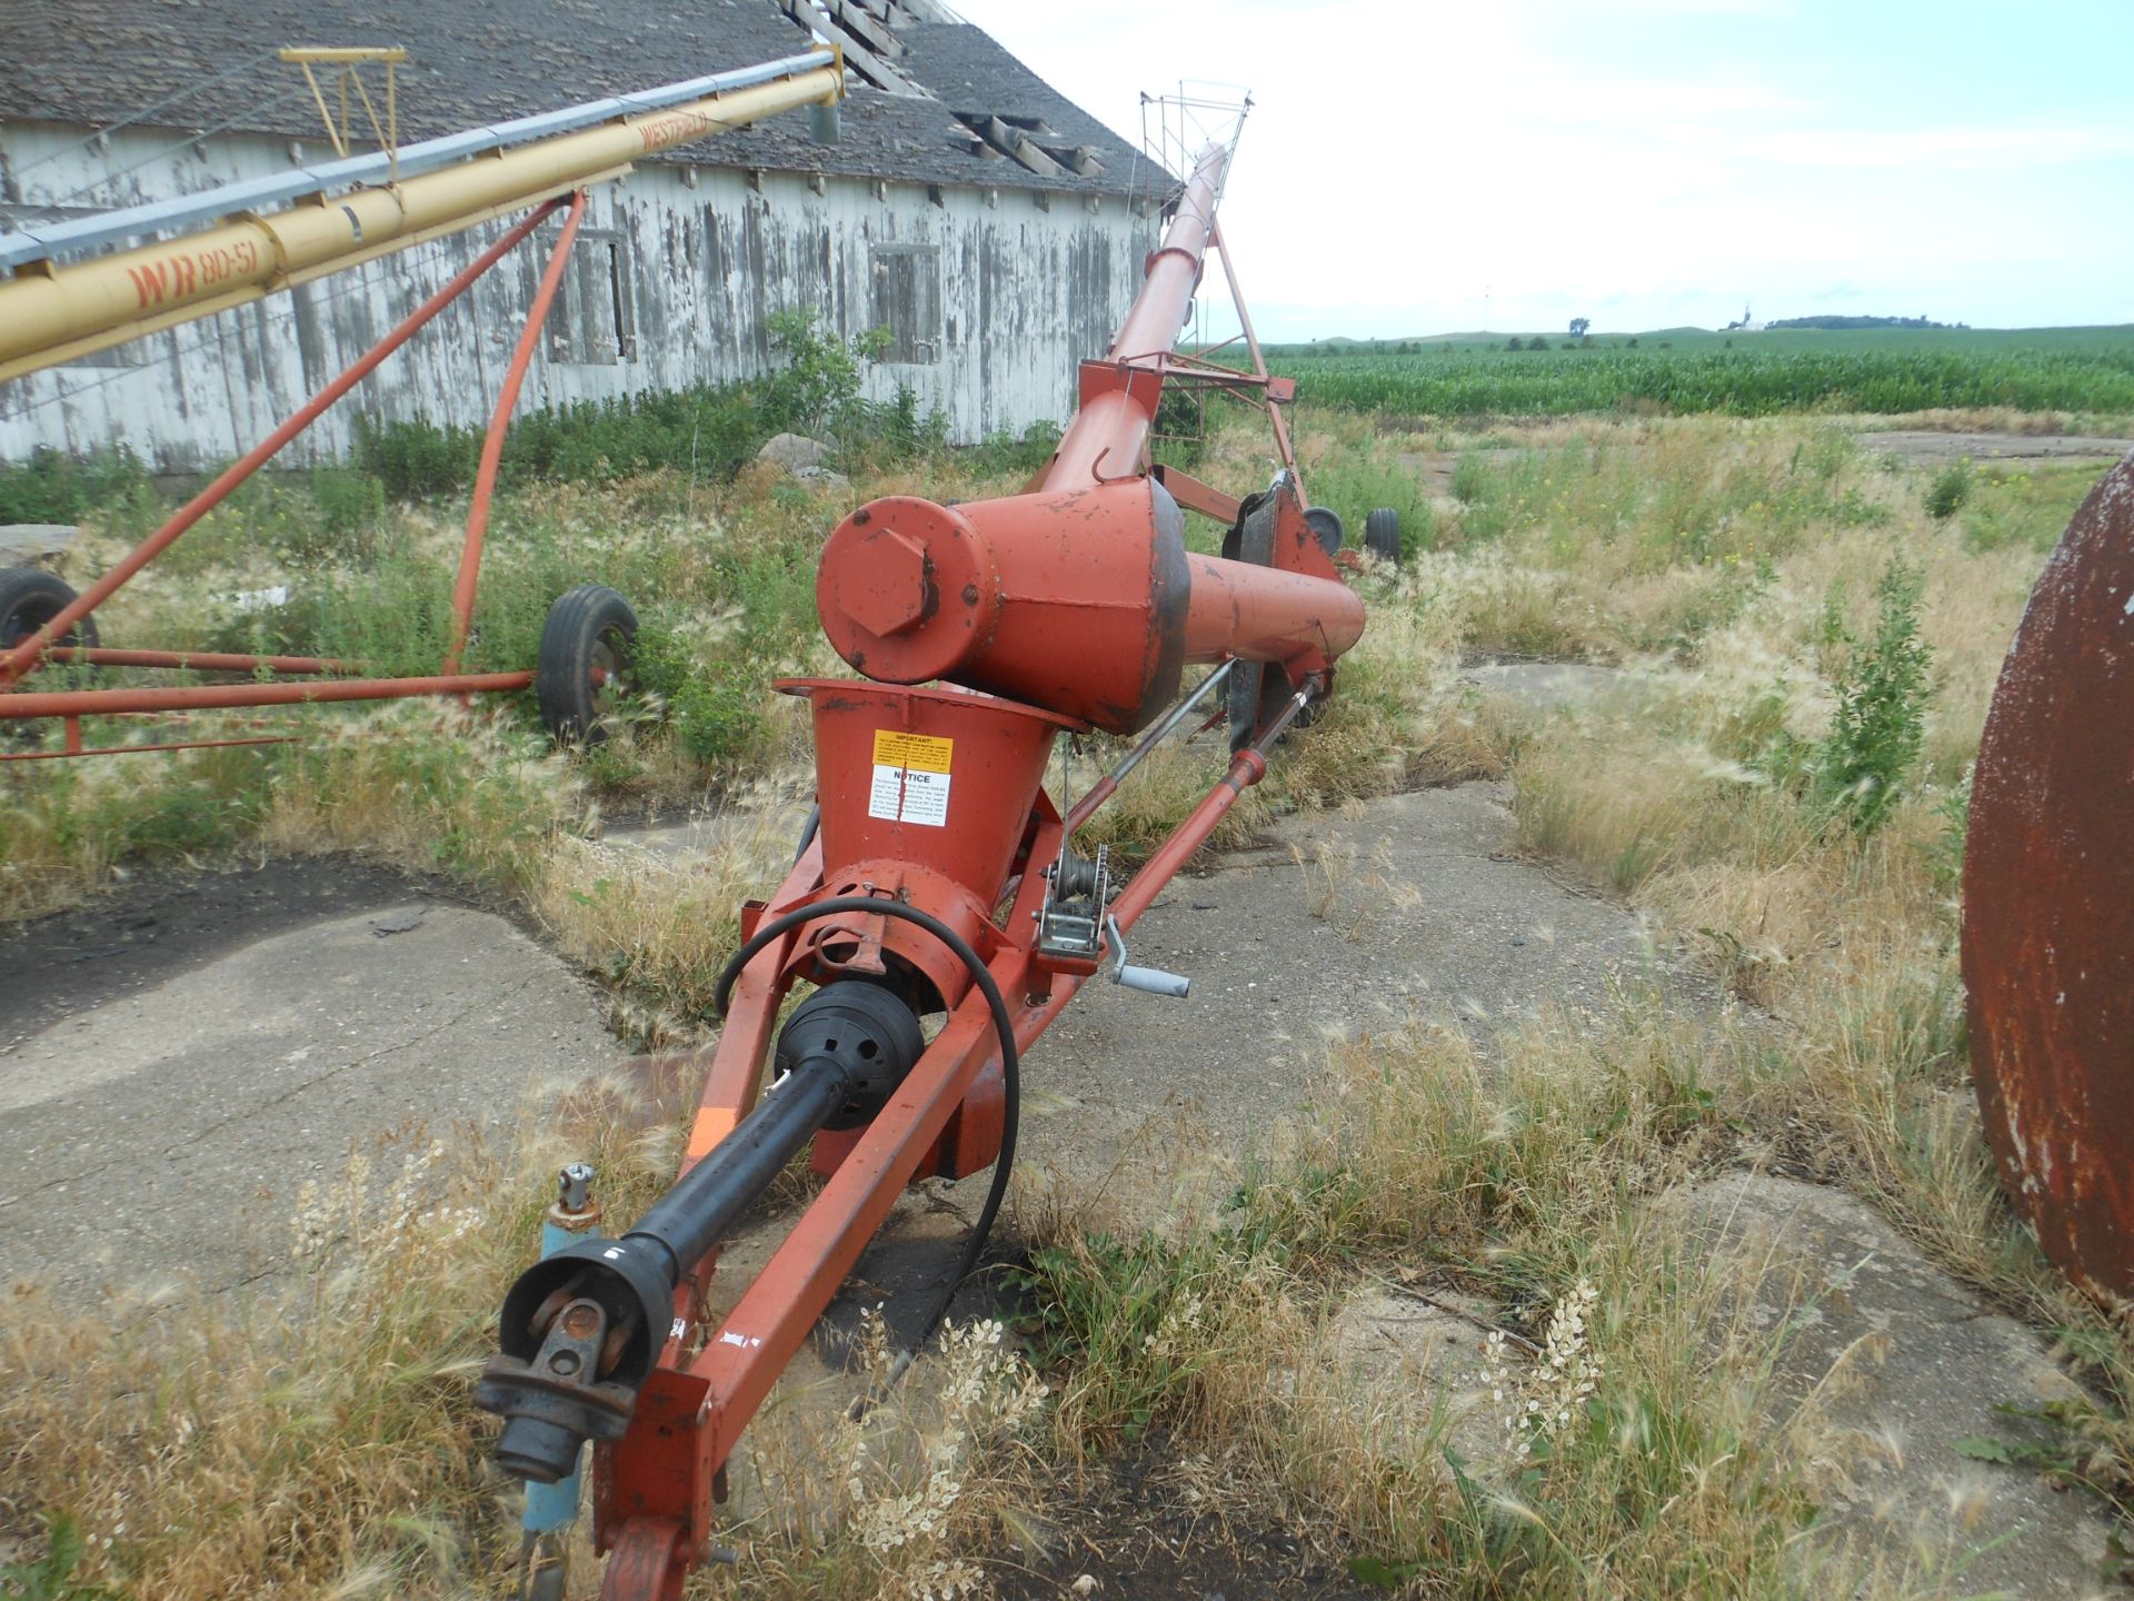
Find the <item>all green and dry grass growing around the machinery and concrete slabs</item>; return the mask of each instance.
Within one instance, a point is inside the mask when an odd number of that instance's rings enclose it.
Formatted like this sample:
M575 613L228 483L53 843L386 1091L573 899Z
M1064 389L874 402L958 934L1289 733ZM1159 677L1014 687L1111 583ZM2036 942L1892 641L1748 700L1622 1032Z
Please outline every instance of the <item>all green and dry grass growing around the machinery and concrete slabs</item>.
M1026 1358L967 1330L928 1364L933 1388L871 1420L779 1402L736 1473L747 1580L728 1588L947 1592L999 1552L1056 1541L1048 1509L1090 1464L1146 1449L1199 1486L1214 1526L1278 1522L1408 1592L1950 1592L1940 1558L1861 1550L1818 1520L1852 1447L1827 1409L1844 1370L1816 1375L1810 1405L1786 1377L1812 1279L1773 1277L1669 1210L1711 1174L1769 1163L1852 1189L2055 1330L2102 1396L2061 1420L2068 1460L2123 1484L2125 1341L2000 1200L1955 969L1968 762L2083 474L1978 467L1936 514L1931 472L1827 416L1415 433L1329 412L1304 438L1315 497L1355 534L1372 504L1402 506L1415 561L1359 578L1372 623L1329 715L1223 839L1285 809L1509 775L1524 852L1633 901L1756 1012L1624 993L1490 1037L1415 1020L1329 1046L1304 1112L1212 1215L1148 1230L1084 1195L1026 1198ZM768 820L807 771L790 702L728 685L828 666L809 585L845 504L1001 493L1041 446L854 463L841 495L672 467L514 489L478 649L508 662L553 587L617 583L642 598L659 662L638 728L559 758L521 709L320 711L303 745L265 754L30 764L0 775L0 909L64 903L143 856L373 850L516 897L612 986L632 1035L694 1040L734 907L790 850ZM1432 495L1402 461L1447 448L1464 455ZM1261 446L1219 429L1199 472L1248 480ZM139 514L105 504L85 561ZM329 508L350 536L307 557L290 540ZM260 487L107 634L207 617L220 638L286 628L425 660L457 510L380 510L341 478ZM284 581L286 611L213 600ZM1530 717L1462 689L1468 655L1630 670L1590 709ZM1219 764L1212 739L1150 760L1095 837L1129 856L1159 839ZM1093 741L1078 783L1110 756ZM1874 826L1850 822L1846 773L1876 775ZM706 798L766 822L694 875L600 839L604 809ZM1300 871L1338 933L1353 860ZM373 1153L303 1219L324 1247L294 1279L303 1317L181 1291L154 1319L19 1298L0 1319L0 1537L34 1556L58 1539L38 1518L64 1513L85 1539L70 1573L141 1597L220 1595L230 1573L290 1597L501 1590L512 1513L467 1373L534 1212L497 1198L536 1193L568 1144L593 1151L610 1210L632 1215L672 1170L674 1131L640 1131L619 1097L534 1108L510 1151L431 1157L410 1129ZM1464 1364L1372 1366L1353 1306L1387 1285L1460 1298L1502 1341L1472 1330ZM1519 1422L1526 1400L1556 1422Z

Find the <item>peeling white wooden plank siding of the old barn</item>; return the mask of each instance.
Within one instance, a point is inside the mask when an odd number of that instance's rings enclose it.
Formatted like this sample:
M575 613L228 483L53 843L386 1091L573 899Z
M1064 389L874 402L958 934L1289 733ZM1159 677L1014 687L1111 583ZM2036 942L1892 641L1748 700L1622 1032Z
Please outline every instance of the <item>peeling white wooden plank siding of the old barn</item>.
M81 137L9 124L0 158L19 173ZM158 156L162 143L166 134L111 134L107 152L38 167L23 199L51 201L139 162L96 190L100 203L124 205L262 177L292 160L282 139L216 137ZM755 376L770 365L768 318L783 310L813 310L839 333L862 333L875 305L873 248L898 243L926 245L939 260L939 356L877 363L869 397L892 399L909 384L922 408L945 412L950 438L962 444L1061 421L1073 408L1076 365L1103 354L1154 239L1152 220L1110 196L1090 211L1084 199L1056 194L1046 209L1016 188L945 186L935 201L911 184L830 177L817 194L802 173L762 173L760 188L738 169L694 169L694 186L685 173L647 167L593 190L585 226L623 239L627 256L634 354L559 361L544 337L521 408ZM100 356L134 365L0 382L0 461L36 446L85 453L122 442L160 470L239 455L501 231L489 224L416 245ZM484 423L544 263L531 245L553 237L548 224L521 245L516 260L491 271L292 444L288 461L346 455L352 410ZM587 273L595 278L604 282Z

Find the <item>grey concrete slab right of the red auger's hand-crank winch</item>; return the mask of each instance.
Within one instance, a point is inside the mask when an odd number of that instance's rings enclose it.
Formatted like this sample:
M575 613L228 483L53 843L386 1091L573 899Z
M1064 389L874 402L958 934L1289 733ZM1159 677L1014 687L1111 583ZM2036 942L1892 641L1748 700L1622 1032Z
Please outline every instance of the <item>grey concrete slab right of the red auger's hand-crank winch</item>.
M1086 984L1024 1063L1024 1161L1163 1221L1201 1174L1157 1172L1161 1134L1191 1131L1210 1168L1263 1146L1329 1037L1417 1014L1490 1037L1549 1003L1600 1012L1622 980L1718 1010L1633 912L1507 854L1507 796L1466 783L1302 813L1176 879L1127 944L1193 993Z

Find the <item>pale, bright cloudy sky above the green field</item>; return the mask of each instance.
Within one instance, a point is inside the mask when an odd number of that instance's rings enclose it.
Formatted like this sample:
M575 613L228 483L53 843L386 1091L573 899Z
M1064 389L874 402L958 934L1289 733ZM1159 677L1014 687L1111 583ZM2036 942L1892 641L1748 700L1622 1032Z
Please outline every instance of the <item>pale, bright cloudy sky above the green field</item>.
M2134 0L950 0L1129 141L1255 109L1272 339L2134 322Z

